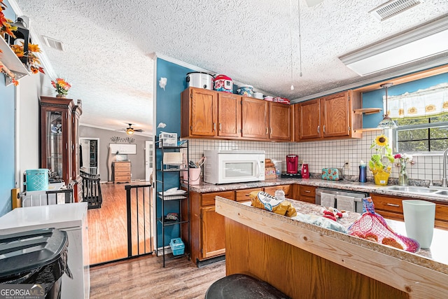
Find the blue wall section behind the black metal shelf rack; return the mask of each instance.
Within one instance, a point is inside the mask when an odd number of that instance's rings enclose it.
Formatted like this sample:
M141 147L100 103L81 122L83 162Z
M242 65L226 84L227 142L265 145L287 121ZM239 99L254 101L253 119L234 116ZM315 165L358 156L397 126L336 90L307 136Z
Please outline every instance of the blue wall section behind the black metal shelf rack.
M159 82L161 77L167 78L167 86L165 86L165 90L163 90L160 88L159 83L157 84L155 118L157 125L159 123L165 123L167 126L165 128L156 129L156 139L158 139L158 136L162 131L177 133L178 137L181 136L181 92L187 88L186 75L191 71L193 70L158 58L156 71L157 81ZM156 161L160 161L160 158L160 151L156 151ZM160 169L160 165L155 165L155 167ZM156 177L159 181L162 180L160 172L156 172ZM179 173L165 172L164 181L165 190L173 187L179 188ZM157 190L162 190L161 183L158 183ZM162 216L162 203L160 198L157 200L157 218L160 218ZM165 202L165 215L169 212L179 213L179 201L172 200ZM169 244L169 241L172 238L180 237L179 226L180 225L171 225L165 227L165 246ZM159 222L157 223L157 231L157 246L160 247L162 246L162 228Z

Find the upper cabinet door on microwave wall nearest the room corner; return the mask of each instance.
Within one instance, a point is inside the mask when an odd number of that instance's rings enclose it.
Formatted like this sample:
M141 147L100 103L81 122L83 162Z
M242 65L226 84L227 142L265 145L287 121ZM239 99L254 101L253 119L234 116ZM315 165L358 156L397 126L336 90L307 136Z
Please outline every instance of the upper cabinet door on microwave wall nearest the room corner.
M291 140L290 105L269 102L269 139Z

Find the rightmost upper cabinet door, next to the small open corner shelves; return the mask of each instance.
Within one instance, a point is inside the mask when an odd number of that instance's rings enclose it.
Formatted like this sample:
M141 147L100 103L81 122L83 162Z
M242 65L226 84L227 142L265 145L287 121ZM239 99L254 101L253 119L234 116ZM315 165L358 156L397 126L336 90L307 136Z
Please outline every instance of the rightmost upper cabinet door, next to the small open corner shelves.
M351 111L348 95L348 92L341 92L321 99L323 137L349 136Z

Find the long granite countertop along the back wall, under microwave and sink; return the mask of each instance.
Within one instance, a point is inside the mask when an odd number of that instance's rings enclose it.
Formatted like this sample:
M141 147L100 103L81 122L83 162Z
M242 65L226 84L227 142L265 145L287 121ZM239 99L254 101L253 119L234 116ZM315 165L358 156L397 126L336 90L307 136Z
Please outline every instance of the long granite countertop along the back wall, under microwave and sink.
M388 186L378 186L374 183L360 183L358 181L325 181L322 179L267 179L265 181L255 181L248 183L228 183L222 185L215 185L212 183L201 182L199 185L190 185L190 191L197 193L211 193L221 192L229 190L239 190L248 188L262 188L269 186L287 185L287 184L300 184L307 186L315 186L321 188L335 188L340 190L352 190L365 193L376 193L381 195L391 195L400 197L409 197L420 200L433 200L437 202L446 202L448 204L448 196L446 195L434 195L430 193L407 193L398 190L389 190ZM182 185L187 187L187 185Z

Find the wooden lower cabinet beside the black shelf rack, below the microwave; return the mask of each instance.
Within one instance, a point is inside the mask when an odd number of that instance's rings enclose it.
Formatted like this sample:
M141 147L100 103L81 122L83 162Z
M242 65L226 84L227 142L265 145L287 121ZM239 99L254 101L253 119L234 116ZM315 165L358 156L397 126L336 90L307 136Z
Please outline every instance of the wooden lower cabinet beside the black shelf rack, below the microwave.
M198 265L203 260L225 254L224 216L215 211L216 196L235 200L235 191L190 192L190 253Z

